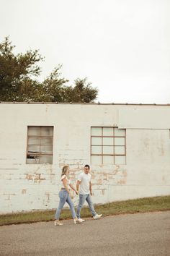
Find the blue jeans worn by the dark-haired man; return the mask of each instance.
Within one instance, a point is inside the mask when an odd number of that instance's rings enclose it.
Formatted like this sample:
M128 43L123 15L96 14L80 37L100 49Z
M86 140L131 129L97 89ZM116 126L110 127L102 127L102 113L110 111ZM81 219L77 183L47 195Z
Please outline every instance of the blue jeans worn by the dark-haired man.
M93 205L93 202L91 200L91 195L90 194L86 194L86 195L79 194L79 205L77 206L77 218L81 218L80 217L80 212L81 212L81 208L84 205L85 200L86 200L86 202L89 205L89 208L91 210L92 216L96 216L97 215L97 213L94 210L94 205Z

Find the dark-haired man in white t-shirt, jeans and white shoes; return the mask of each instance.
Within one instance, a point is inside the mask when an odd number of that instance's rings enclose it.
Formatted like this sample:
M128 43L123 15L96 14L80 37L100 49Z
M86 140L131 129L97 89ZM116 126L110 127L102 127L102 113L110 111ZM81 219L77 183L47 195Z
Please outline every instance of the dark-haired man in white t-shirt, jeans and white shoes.
M76 190L79 192L79 205L77 206L77 218L79 221L84 221L81 216L81 208L84 205L84 202L88 202L89 208L91 210L94 220L97 220L102 216L102 214L97 214L94 210L94 205L91 200L92 190L91 190L91 174L89 174L90 166L86 164L84 166L84 172L79 175L79 179L76 183Z

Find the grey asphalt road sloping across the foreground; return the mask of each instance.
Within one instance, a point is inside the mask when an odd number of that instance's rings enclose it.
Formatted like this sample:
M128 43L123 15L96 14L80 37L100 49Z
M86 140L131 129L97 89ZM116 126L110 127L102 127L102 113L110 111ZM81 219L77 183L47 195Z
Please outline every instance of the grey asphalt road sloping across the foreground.
M170 255L170 211L0 227L0 255Z

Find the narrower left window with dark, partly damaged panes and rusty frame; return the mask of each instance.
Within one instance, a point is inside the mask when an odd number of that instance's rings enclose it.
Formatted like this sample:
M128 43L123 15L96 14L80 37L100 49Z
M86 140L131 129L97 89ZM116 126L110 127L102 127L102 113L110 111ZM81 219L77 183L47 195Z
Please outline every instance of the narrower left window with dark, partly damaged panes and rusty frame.
M27 127L26 163L53 163L53 127Z

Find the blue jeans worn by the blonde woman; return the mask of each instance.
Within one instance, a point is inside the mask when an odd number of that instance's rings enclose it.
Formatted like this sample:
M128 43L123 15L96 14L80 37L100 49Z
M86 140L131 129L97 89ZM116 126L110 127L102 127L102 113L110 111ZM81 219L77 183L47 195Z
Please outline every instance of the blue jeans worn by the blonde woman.
M61 191L59 192L59 197L60 197L60 202L59 202L58 208L57 208L56 213L55 213L55 220L59 220L61 210L63 209L63 206L65 205L65 202L67 202L68 205L71 208L72 217L76 218L76 213L75 213L75 210L74 210L73 202L72 202L71 197L69 196L67 190L66 189L61 189Z

